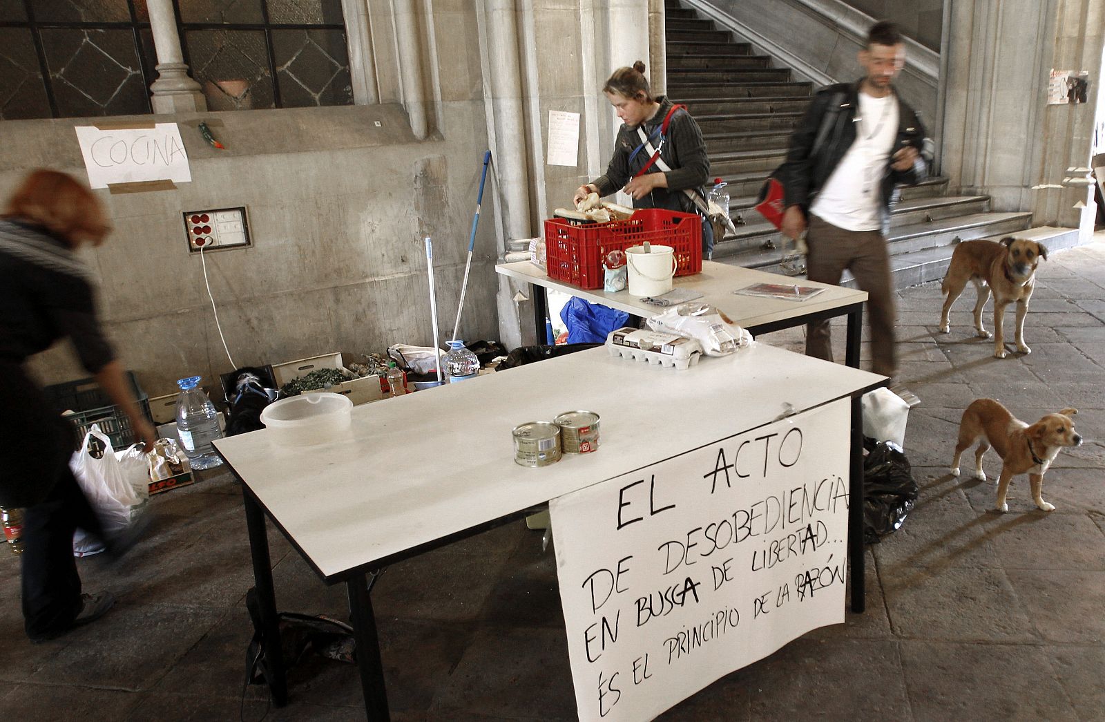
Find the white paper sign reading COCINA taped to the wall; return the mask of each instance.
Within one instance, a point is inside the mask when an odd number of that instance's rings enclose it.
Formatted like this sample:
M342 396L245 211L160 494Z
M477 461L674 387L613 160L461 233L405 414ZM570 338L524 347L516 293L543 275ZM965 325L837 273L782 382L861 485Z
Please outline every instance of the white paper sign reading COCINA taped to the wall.
M104 130L83 125L74 130L93 188L145 180L189 182L192 179L176 123L157 123L152 128Z

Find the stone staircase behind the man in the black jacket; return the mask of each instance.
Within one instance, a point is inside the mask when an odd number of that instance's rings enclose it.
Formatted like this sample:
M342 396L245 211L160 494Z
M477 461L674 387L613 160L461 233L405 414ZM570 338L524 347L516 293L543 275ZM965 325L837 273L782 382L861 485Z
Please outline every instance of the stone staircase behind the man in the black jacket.
M754 54L728 30L665 0L667 93L698 122L709 153L711 177L728 185L737 233L716 242L714 260L782 273L782 239L753 209L768 174L783 160L787 140L817 90L790 69ZM946 178L901 189L892 210L890 250L895 285L941 279L953 245L961 240L1031 237L1057 250L1077 243L1073 229L1038 228L1030 212L994 212L989 196L949 196ZM845 274L843 285L850 285Z

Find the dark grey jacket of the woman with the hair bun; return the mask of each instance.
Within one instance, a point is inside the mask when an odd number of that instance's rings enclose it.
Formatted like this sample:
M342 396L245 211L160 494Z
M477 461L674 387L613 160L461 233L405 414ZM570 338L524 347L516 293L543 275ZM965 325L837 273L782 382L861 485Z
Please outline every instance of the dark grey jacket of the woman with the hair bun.
M653 138L652 133L663 124L667 112L672 109L672 102L663 95L659 96L656 102L660 103L660 109L642 124L645 134L652 140L653 148L660 143L660 136ZM635 125L622 124L618 129L614 153L607 167L607 174L593 181L599 189L599 196L609 196L621 190L630 178L649 163L651 154L643 148L633 156L633 150L641 145L636 128ZM633 156L632 160L630 156ZM703 186L709 176L709 158L706 157L706 140L702 137L702 130L686 111L678 111L672 116L672 122L667 126L667 137L660 148L660 157L671 168L667 171L667 188L656 188L644 198L634 200L633 207L664 208L684 213L697 212L694 202L683 190L691 188L703 198L706 197ZM649 172L660 172L660 168L656 164L652 164Z

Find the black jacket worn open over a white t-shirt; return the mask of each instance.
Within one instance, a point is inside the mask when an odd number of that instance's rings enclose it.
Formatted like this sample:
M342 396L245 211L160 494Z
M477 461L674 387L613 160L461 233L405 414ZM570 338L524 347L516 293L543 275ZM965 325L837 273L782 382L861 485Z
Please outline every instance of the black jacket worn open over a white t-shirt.
M775 177L783 186L788 207L797 205L809 213L813 197L824 187L855 142L854 121L860 107L861 82L830 85L810 102L806 115L790 136L786 163L775 171ZM920 156L908 170L894 170L887 161L880 185L884 228L890 220L891 202L895 200L894 187L913 186L924 180L928 175L927 163L932 160L932 142L925 137L920 117L896 92L894 97L898 102L898 132L891 155L909 145ZM815 155L814 147L818 148Z

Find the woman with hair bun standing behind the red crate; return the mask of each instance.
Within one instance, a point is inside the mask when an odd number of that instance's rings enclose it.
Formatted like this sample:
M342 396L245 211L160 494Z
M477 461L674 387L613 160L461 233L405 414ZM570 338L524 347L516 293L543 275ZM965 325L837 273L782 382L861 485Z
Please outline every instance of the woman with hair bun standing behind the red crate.
M664 208L702 214L687 191L695 193L705 205L704 186L709 176L709 159L702 130L686 108L674 106L663 95L652 95L641 61L633 63L632 67L615 70L602 92L618 112L622 126L614 139L614 154L606 175L577 188L576 202L592 192L604 197L624 190L632 196L634 208ZM675 112L669 118L673 107ZM662 133L665 119L667 128L666 133ZM659 160L669 170L659 168L659 163L650 165L652 154L645 150L638 128L644 129L653 148L659 148ZM645 169L643 174L642 169ZM702 226L703 254L709 258L714 250L714 232L705 217Z

